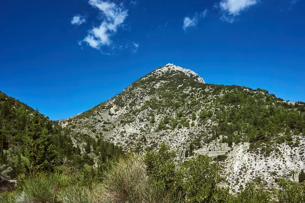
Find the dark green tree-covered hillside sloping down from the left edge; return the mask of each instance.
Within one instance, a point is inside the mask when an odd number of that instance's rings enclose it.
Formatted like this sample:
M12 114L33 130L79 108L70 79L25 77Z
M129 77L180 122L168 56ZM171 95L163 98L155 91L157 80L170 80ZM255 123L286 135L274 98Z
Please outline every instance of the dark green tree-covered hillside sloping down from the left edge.
M0 192L14 189L9 180L22 183L41 173L79 174L78 179L89 182L100 177L93 170L95 161L102 173L110 160L124 154L101 138L81 139L84 152L81 144L73 145L68 129L0 92Z

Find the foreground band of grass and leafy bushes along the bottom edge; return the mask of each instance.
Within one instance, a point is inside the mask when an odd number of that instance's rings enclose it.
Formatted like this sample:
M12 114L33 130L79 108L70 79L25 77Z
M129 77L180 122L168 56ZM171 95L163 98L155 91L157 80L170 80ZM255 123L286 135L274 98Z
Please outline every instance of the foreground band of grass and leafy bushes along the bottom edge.
M162 143L144 158L129 154L109 161L101 178L85 182L77 174L45 174L25 177L14 192L0 194L1 202L305 202L305 187L279 179L280 189L264 190L249 183L237 194L221 186L221 166L208 156L185 162Z

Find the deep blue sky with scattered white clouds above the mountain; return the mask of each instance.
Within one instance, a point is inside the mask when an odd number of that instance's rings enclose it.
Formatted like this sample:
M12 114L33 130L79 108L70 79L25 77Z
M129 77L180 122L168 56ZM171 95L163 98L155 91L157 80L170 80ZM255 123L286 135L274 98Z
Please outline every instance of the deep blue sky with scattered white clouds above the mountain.
M305 101L305 1L1 1L0 90L50 119L167 63Z

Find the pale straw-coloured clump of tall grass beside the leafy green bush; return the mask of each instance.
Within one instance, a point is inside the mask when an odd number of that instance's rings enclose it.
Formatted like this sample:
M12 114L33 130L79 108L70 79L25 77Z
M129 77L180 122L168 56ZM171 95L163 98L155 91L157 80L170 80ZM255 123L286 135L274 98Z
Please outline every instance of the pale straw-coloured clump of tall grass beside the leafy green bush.
M119 203L174 203L180 202L172 191L164 185L151 182L146 175L145 164L141 157L131 154L127 159L119 159L107 170L105 180L100 185L100 202Z

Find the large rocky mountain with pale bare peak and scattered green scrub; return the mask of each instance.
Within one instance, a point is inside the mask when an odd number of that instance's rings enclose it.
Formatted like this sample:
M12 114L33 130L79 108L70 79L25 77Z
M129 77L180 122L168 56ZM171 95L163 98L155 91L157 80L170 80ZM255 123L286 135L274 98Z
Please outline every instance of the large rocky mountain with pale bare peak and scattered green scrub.
M165 141L181 159L208 154L223 162L235 190L251 180L276 185L305 169L304 103L264 89L206 84L173 64L59 123L79 143L90 136L144 152Z

